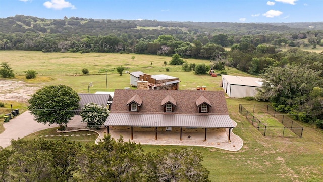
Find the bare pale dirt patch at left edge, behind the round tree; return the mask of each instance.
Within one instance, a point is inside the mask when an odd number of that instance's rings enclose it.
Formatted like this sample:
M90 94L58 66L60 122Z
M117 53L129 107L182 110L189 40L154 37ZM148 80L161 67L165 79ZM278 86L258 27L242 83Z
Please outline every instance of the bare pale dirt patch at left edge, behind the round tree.
M17 80L0 80L0 100L27 103L28 99L42 86Z

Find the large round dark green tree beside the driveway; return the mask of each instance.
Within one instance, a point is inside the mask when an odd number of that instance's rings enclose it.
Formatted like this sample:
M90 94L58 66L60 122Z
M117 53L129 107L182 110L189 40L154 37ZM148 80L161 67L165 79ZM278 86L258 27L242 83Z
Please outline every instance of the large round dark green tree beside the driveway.
M50 85L39 89L28 100L28 109L37 122L66 125L79 106L80 97L69 86Z

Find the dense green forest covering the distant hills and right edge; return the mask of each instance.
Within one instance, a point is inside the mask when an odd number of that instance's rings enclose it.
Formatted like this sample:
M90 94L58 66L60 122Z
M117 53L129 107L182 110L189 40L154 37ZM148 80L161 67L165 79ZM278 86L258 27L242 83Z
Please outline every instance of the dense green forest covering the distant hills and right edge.
M303 48L321 48L322 39L323 22L52 20L24 15L0 19L0 50L179 55L209 60L211 69L237 68L266 80L257 100L269 100L277 110L319 128L323 52Z

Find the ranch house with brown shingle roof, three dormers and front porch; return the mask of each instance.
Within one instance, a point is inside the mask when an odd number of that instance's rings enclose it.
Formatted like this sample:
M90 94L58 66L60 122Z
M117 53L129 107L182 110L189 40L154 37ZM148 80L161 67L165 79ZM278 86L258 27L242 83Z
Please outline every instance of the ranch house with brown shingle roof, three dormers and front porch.
M234 128L223 92L197 90L115 90L109 116L104 126L110 130L131 132L208 132L224 135L230 141Z

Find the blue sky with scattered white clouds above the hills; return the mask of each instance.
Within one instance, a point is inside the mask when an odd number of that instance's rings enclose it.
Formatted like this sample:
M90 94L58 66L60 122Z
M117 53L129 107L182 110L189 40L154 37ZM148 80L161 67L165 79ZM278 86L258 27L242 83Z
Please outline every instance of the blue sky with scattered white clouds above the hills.
M0 0L0 18L148 19L193 22L318 22L323 0Z

